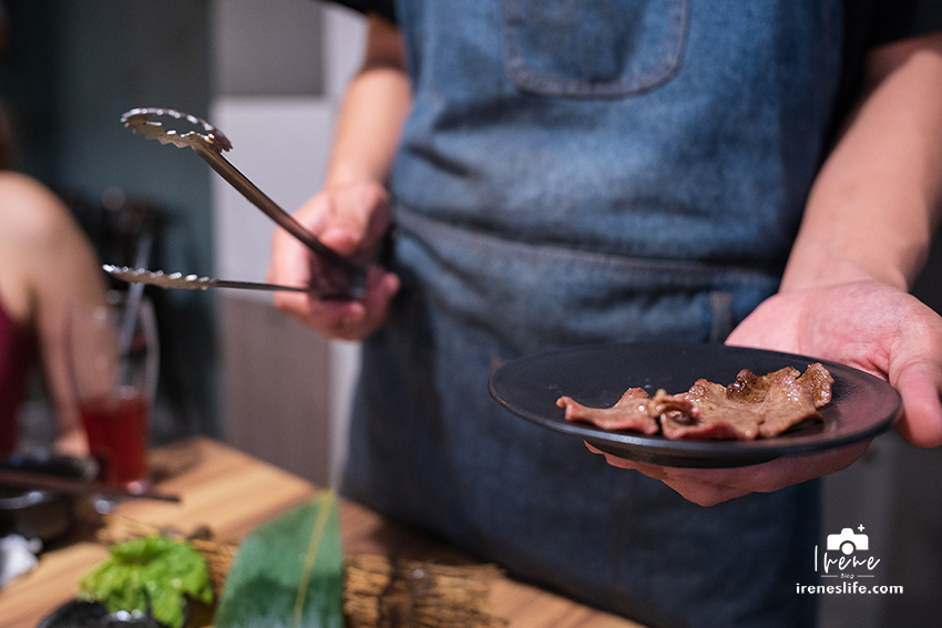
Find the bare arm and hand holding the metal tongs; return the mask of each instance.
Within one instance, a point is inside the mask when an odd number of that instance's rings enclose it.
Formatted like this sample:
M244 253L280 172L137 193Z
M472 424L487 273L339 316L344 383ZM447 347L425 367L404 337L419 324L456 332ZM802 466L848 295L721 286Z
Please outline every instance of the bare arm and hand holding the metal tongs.
M399 31L371 17L366 60L344 99L324 188L295 214L340 254L371 260L389 226L386 183L410 106L411 85L402 68ZM303 286L315 272L310 254L276 229L269 280ZM320 301L279 292L275 305L325 336L357 340L386 320L398 289L398 277L375 266L367 295L358 301Z

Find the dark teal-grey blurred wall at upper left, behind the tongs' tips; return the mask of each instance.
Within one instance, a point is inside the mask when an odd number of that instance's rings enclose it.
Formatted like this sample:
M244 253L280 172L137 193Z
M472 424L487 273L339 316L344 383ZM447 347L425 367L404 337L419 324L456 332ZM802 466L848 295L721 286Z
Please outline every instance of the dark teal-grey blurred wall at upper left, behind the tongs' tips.
M166 106L206 117L207 0L7 0L0 97L19 131L20 169L98 224L111 189L163 213L152 266L212 275L209 171L192 151L133 135L121 114ZM99 234L95 229L93 237ZM98 239L98 238L96 238ZM96 244L102 245L101 241ZM102 250L104 262L113 250ZM213 433L213 297L149 292L161 323L154 439Z

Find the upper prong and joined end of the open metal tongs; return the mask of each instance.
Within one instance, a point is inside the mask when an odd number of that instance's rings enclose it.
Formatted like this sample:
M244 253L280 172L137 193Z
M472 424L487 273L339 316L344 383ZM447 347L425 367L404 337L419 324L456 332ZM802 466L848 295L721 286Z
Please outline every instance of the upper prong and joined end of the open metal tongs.
M182 126L188 123L190 128L174 131L165 127L156 117L168 119ZM314 251L321 274L319 284L311 286L310 292L321 299L356 299L366 294L367 268L327 247L226 161L223 151L232 150L233 145L218 128L205 120L172 109L134 109L122 115L121 122L147 140L173 144L178 148L193 148L253 205Z

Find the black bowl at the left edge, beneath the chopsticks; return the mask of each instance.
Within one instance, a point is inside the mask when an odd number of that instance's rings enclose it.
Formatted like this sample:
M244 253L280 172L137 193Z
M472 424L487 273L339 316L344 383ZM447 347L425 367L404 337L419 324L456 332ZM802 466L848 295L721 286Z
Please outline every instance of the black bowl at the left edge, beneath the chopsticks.
M98 474L93 460L48 451L12 454L0 460L0 467L84 481ZM0 536L19 534L49 544L75 526L85 504L88 497L82 495L0 485Z

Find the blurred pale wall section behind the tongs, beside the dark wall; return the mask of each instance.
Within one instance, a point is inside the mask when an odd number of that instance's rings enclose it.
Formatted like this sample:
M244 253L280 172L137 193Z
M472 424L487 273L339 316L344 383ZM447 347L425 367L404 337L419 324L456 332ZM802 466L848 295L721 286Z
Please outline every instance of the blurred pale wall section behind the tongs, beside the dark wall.
M294 212L322 184L336 110L360 63L365 20L310 0L216 0L214 11L219 23L213 48L222 80L209 122L233 143L226 158ZM273 50L259 50L253 39L257 33L238 34L252 30L249 18L258 11L265 12L269 30L297 19L307 20L307 30L286 34ZM297 31L291 24L284 33ZM316 31L319 45L311 44L307 31ZM310 54L314 49L322 54ZM252 63L239 61L255 54ZM307 72L304 63L320 66ZM298 68L297 84L284 71L291 65ZM275 69L278 84L259 90L265 68ZM221 177L214 176L212 186L216 276L264 281L274 223ZM222 292L221 300L219 406L228 439L315 482L331 482L346 456L359 344L324 340L280 315L267 292Z

